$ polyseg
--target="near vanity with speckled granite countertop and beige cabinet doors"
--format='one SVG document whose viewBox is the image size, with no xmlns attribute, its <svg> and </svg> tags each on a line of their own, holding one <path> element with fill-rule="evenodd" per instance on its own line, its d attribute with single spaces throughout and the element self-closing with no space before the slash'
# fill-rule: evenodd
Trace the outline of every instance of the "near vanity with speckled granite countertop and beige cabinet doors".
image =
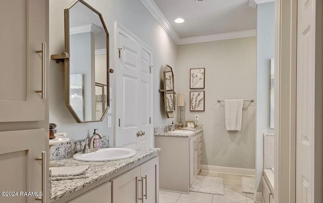
<svg viewBox="0 0 323 203">
<path fill-rule="evenodd" d="M 81 162 L 73 158 L 55 160 L 65 166 L 89 165 L 89 178 L 51 182 L 49 202 L 158 202 L 158 148 L 132 147 L 136 155 L 107 162 Z"/>
</svg>

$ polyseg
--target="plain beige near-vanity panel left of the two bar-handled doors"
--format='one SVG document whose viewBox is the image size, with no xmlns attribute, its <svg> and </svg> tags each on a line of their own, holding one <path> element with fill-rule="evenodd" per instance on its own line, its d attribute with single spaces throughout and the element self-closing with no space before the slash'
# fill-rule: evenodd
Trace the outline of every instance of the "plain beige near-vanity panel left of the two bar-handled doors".
<svg viewBox="0 0 323 203">
<path fill-rule="evenodd" d="M 68 203 L 100 202 L 111 203 L 111 182 L 102 185 L 82 194 Z"/>
</svg>

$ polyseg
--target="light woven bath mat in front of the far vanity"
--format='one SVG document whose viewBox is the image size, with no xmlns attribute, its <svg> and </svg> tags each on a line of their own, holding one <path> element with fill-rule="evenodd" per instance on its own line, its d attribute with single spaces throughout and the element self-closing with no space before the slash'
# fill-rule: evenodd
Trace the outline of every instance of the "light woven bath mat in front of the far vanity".
<svg viewBox="0 0 323 203">
<path fill-rule="evenodd" d="M 224 180 L 221 177 L 195 176 L 190 191 L 224 195 Z"/>
</svg>

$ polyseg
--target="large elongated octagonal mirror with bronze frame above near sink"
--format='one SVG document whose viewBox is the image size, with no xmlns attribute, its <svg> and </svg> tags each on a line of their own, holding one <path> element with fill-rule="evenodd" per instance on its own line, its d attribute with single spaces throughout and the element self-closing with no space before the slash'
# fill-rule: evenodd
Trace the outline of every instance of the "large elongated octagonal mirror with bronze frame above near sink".
<svg viewBox="0 0 323 203">
<path fill-rule="evenodd" d="M 98 122 L 109 109 L 109 32 L 82 0 L 65 10 L 65 104 L 78 123 Z"/>
</svg>

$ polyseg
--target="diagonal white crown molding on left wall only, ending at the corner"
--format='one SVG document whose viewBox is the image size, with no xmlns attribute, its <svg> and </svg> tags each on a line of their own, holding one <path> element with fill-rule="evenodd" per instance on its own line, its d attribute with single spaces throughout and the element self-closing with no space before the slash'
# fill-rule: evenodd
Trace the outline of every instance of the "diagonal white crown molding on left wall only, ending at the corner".
<svg viewBox="0 0 323 203">
<path fill-rule="evenodd" d="M 140 0 L 143 5 L 148 9 L 148 11 L 152 14 L 152 16 L 157 20 L 157 22 L 164 28 L 164 30 L 170 35 L 170 37 L 174 40 L 177 44 L 180 37 L 175 32 L 174 28 L 165 18 L 163 13 L 159 10 L 157 5 L 153 2 L 153 0 Z"/>
</svg>

